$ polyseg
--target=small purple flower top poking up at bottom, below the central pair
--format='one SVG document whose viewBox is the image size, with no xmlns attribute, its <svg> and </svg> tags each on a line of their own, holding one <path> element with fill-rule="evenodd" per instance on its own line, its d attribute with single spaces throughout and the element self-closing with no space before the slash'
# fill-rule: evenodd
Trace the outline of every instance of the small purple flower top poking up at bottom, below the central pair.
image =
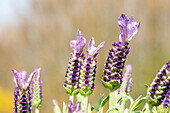
<svg viewBox="0 0 170 113">
<path fill-rule="evenodd" d="M 84 113 L 84 111 L 80 111 L 80 105 L 81 102 L 77 102 L 77 104 L 75 106 L 73 106 L 72 101 L 69 100 L 68 103 L 68 113 Z"/>
</svg>

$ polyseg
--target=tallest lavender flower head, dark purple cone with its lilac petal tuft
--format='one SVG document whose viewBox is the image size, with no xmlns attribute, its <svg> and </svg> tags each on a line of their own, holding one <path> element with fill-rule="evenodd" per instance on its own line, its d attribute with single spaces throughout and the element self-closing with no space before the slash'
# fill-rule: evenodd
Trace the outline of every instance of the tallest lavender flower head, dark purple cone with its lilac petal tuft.
<svg viewBox="0 0 170 113">
<path fill-rule="evenodd" d="M 118 24 L 121 30 L 120 37 L 118 43 L 112 44 L 112 49 L 109 50 L 104 75 L 102 75 L 102 83 L 110 91 L 118 89 L 122 84 L 123 69 L 130 49 L 128 41 L 137 33 L 140 23 L 133 22 L 133 17 L 128 18 L 122 14 Z"/>
</svg>

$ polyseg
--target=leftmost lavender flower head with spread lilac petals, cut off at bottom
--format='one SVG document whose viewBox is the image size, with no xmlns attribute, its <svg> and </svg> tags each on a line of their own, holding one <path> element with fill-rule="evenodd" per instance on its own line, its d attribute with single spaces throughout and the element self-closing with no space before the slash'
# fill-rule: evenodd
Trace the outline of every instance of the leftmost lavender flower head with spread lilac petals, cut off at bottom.
<svg viewBox="0 0 170 113">
<path fill-rule="evenodd" d="M 30 84 L 33 80 L 35 73 L 31 73 L 29 78 L 27 78 L 27 72 L 21 71 L 17 72 L 12 70 L 15 77 L 13 78 L 16 88 L 14 90 L 14 104 L 15 104 L 15 113 L 30 113 L 32 110 L 31 105 L 31 93 L 30 93 Z"/>
</svg>

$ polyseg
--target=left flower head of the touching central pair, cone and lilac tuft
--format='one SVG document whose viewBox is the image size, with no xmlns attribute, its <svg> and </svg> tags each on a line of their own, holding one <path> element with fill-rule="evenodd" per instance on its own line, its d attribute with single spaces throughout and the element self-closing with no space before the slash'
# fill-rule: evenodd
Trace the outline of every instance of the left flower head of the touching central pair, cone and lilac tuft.
<svg viewBox="0 0 170 113">
<path fill-rule="evenodd" d="M 82 37 L 81 32 L 77 32 L 77 40 L 70 41 L 70 48 L 74 51 L 71 53 L 68 69 L 66 72 L 66 81 L 64 89 L 69 95 L 77 95 L 79 92 L 79 78 L 82 60 L 84 57 L 83 48 L 86 44 L 86 39 Z"/>
</svg>

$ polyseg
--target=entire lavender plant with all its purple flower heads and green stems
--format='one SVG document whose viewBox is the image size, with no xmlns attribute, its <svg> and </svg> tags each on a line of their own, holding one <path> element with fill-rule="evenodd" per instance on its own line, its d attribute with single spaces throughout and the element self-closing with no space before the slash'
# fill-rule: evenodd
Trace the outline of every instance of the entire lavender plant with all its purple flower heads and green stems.
<svg viewBox="0 0 170 113">
<path fill-rule="evenodd" d="M 107 61 L 104 67 L 104 74 L 101 82 L 110 93 L 104 98 L 100 95 L 97 106 L 90 107 L 88 96 L 95 89 L 95 77 L 97 68 L 96 56 L 99 50 L 104 48 L 105 42 L 101 42 L 95 47 L 92 37 L 88 44 L 87 57 L 83 53 L 86 39 L 81 32 L 77 31 L 77 40 L 70 41 L 71 58 L 65 75 L 64 89 L 70 96 L 68 104 L 63 102 L 63 113 L 91 113 L 95 109 L 98 113 L 103 113 L 103 108 L 109 101 L 109 109 L 106 113 L 169 113 L 170 112 L 170 60 L 158 72 L 150 87 L 147 88 L 146 97 L 139 96 L 136 100 L 130 96 L 132 91 L 132 66 L 125 66 L 127 55 L 129 54 L 129 42 L 137 34 L 140 23 L 133 21 L 133 16 L 128 18 L 121 14 L 118 19 L 120 35 L 118 42 L 112 44 L 109 50 Z M 42 80 L 40 78 L 40 68 L 27 77 L 26 71 L 14 73 L 13 81 L 16 84 L 14 90 L 14 113 L 39 113 L 42 104 Z M 74 105 L 74 96 L 77 103 Z M 129 107 L 126 103 L 130 101 Z M 144 101 L 146 104 L 142 110 L 135 111 Z M 54 113 L 61 113 L 57 100 L 53 100 Z"/>
</svg>

